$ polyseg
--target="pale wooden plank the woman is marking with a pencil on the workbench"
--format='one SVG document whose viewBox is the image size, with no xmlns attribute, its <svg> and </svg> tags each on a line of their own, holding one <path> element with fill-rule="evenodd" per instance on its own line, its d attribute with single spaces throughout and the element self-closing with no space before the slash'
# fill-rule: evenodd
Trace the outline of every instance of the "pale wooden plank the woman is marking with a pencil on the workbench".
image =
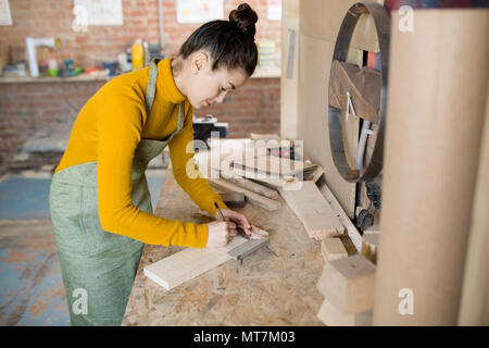
<svg viewBox="0 0 489 348">
<path fill-rule="evenodd" d="M 187 248 L 146 266 L 145 275 L 170 290 L 230 260 L 227 252 L 247 241 L 236 236 L 222 248 Z"/>
</svg>

